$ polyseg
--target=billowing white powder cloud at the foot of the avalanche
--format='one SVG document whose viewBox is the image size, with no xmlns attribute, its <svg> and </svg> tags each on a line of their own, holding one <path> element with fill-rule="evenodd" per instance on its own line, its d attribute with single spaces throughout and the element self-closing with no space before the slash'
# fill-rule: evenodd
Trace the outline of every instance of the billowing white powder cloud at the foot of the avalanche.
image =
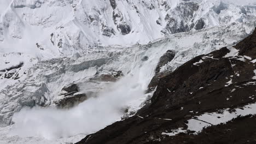
<svg viewBox="0 0 256 144">
<path fill-rule="evenodd" d="M 120 120 L 127 105 L 144 97 L 142 85 L 136 77 L 124 77 L 109 86 L 97 98 L 91 98 L 69 110 L 53 108 L 22 109 L 13 117 L 15 127 L 11 135 L 41 136 L 48 140 L 78 134 L 95 133 Z"/>
</svg>

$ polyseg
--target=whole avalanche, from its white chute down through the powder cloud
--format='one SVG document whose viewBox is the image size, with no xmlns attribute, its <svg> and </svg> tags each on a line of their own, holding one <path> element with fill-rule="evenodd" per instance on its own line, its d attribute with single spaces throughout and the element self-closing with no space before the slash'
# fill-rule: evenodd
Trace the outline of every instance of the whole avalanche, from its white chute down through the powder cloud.
<svg viewBox="0 0 256 144">
<path fill-rule="evenodd" d="M 102 66 L 103 69 L 123 68 L 122 71 L 125 74 L 123 78 L 103 86 L 97 92 L 97 97 L 89 98 L 73 109 L 59 110 L 54 107 L 22 109 L 13 116 L 15 125 L 11 134 L 21 137 L 40 136 L 48 140 L 56 140 L 61 137 L 95 133 L 106 125 L 120 121 L 125 109 L 138 110 L 146 100 L 144 91 L 154 76 L 158 59 L 167 49 L 167 47 L 161 47 L 145 51 L 139 46 L 124 49 L 125 55 L 121 55 L 118 61 Z M 129 53 L 126 53 L 127 51 Z M 148 61 L 141 61 L 145 55 L 149 57 Z M 54 73 L 45 74 L 53 75 Z M 71 80 L 75 80 L 75 77 Z M 53 82 L 54 85 L 56 85 L 55 82 Z M 80 88 L 83 88 L 83 85 Z M 51 85 L 49 89 L 55 90 Z"/>
</svg>

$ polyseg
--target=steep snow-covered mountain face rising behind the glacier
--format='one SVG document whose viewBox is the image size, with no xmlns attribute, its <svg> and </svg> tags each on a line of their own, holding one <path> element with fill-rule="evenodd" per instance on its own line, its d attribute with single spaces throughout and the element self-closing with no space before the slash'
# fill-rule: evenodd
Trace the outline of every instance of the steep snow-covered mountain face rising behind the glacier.
<svg viewBox="0 0 256 144">
<path fill-rule="evenodd" d="M 39 58 L 147 44 L 173 33 L 247 22 L 256 13 L 252 4 L 220 0 L 14 0 L 0 5 L 0 52 L 31 52 Z"/>
</svg>

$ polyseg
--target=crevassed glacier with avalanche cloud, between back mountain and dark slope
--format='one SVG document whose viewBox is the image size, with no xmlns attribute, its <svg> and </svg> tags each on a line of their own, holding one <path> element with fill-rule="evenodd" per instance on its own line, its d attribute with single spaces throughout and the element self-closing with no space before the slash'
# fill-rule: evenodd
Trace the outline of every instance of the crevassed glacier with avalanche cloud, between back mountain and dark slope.
<svg viewBox="0 0 256 144">
<path fill-rule="evenodd" d="M 124 115 L 123 110 L 129 109 L 129 112 L 132 112 L 143 106 L 144 101 L 148 100 L 149 97 L 149 95 L 144 94 L 144 91 L 155 74 L 154 70 L 159 58 L 167 50 L 177 52 L 173 61 L 166 65 L 168 70 L 175 70 L 179 65 L 193 57 L 222 47 L 222 45 L 212 46 L 213 44 L 203 37 L 200 37 L 194 43 L 190 43 L 190 45 L 177 43 L 177 39 L 188 41 L 195 35 L 205 35 L 206 33 L 212 35 L 212 39 L 214 39 L 216 35 L 219 35 L 219 33 L 216 33 L 216 29 L 218 29 L 223 34 L 222 39 L 220 39 L 220 41 L 224 41 L 225 44 L 223 45 L 232 44 L 234 41 L 241 40 L 242 37 L 239 38 L 237 35 L 244 35 L 243 32 L 240 32 L 242 27 L 242 25 L 230 27 L 230 31 L 224 34 L 222 29 L 227 29 L 228 27 L 214 27 L 205 29 L 205 31 L 170 35 L 149 45 L 102 47 L 101 49 L 95 49 L 94 52 L 80 53 L 78 57 L 72 56 L 39 61 L 27 70 L 27 75 L 24 76 L 25 80 L 13 83 L 13 86 L 8 91 L 1 91 L 3 99 L 0 99 L 0 101 L 6 104 L 1 113 L 5 112 L 3 116 L 7 119 L 6 122 L 9 122 L 8 119 L 11 118 L 13 111 L 20 111 L 18 98 L 22 98 L 24 101 L 30 101 L 31 98 L 40 99 L 33 93 L 40 88 L 38 86 L 42 86 L 41 83 L 45 83 L 49 90 L 45 93 L 45 97 L 54 101 L 59 97 L 58 95 L 63 86 L 76 81 L 79 83 L 79 87 L 83 89 L 82 92 L 93 91 L 97 97 L 91 97 L 84 103 L 69 110 L 55 109 L 54 105 L 50 105 L 45 109 L 40 107 L 23 109 L 13 117 L 15 125 L 9 131 L 13 135 L 18 135 L 19 139 L 22 140 L 27 139 L 26 137 L 42 137 L 40 141 L 45 139 L 58 141 L 60 137 L 67 139 L 78 134 L 95 133 L 107 125 L 119 121 Z M 236 33 L 235 37 L 232 37 L 233 33 Z M 113 57 L 109 57 L 110 54 Z M 148 56 L 149 59 L 141 61 L 144 56 Z M 87 67 L 86 62 L 98 62 L 97 59 L 102 58 L 108 59 L 106 64 L 84 69 Z M 25 64 L 28 62 L 30 60 L 26 60 Z M 61 70 L 63 67 L 65 68 L 65 73 Z M 74 72 L 74 68 L 76 68 L 76 72 Z M 123 71 L 125 77 L 117 83 L 100 82 L 95 84 L 88 81 L 97 71 L 100 74 L 105 74 L 111 70 Z M 34 85 L 34 83 L 37 84 Z M 21 88 L 26 95 L 20 94 L 19 89 Z M 12 95 L 13 99 L 10 100 L 9 95 Z M 101 119 L 105 119 L 105 117 L 107 117 L 106 121 L 102 121 Z M 88 121 L 84 119 L 88 119 Z M 97 127 L 92 127 L 95 123 L 97 123 Z M 23 130 L 25 127 L 26 129 Z M 5 138 L 4 140 L 7 141 L 7 138 Z"/>
</svg>

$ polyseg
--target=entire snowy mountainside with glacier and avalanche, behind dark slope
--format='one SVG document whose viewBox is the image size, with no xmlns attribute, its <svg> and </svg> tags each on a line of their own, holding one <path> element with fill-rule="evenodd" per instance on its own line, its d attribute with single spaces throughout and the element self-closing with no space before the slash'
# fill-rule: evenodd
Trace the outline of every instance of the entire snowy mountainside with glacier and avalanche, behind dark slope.
<svg viewBox="0 0 256 144">
<path fill-rule="evenodd" d="M 0 143 L 73 142 L 134 115 L 167 50 L 160 71 L 237 44 L 256 26 L 253 2 L 0 1 Z"/>
</svg>

